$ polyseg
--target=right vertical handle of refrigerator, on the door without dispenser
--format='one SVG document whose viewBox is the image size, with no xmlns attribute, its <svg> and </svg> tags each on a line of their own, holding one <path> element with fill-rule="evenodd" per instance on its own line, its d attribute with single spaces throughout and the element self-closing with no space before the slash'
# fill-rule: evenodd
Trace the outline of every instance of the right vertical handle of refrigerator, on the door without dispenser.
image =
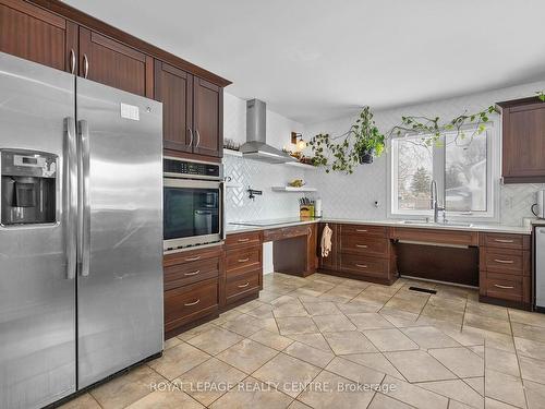
<svg viewBox="0 0 545 409">
<path fill-rule="evenodd" d="M 89 202 L 89 127 L 78 121 L 80 133 L 80 274 L 87 277 L 90 270 L 90 202 Z"/>
</svg>

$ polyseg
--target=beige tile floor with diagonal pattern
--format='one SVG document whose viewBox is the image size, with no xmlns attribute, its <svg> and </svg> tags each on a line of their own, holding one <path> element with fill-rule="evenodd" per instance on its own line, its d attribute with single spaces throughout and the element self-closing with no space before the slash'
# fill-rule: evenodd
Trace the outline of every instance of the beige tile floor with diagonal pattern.
<svg viewBox="0 0 545 409">
<path fill-rule="evenodd" d="M 322 274 L 166 342 L 65 408 L 545 408 L 545 314 Z"/>
</svg>

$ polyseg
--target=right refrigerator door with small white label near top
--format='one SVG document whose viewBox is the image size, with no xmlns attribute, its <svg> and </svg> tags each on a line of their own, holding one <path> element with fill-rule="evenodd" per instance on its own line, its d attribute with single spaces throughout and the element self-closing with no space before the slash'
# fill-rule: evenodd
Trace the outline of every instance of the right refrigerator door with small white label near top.
<svg viewBox="0 0 545 409">
<path fill-rule="evenodd" d="M 76 89 L 82 388 L 162 350 L 162 105 Z"/>
</svg>

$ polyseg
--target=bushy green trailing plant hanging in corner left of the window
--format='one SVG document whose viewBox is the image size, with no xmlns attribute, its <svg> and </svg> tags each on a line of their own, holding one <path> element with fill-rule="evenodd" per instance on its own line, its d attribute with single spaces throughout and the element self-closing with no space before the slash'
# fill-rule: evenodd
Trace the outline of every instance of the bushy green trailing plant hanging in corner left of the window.
<svg viewBox="0 0 545 409">
<path fill-rule="evenodd" d="M 336 140 L 341 142 L 334 142 Z M 353 173 L 359 164 L 373 163 L 373 157 L 380 156 L 385 151 L 385 144 L 386 136 L 376 127 L 373 112 L 367 106 L 344 134 L 331 137 L 327 133 L 320 133 L 308 142 L 314 153 L 314 165 L 325 166 L 326 172 L 336 170 L 346 173 Z M 326 149 L 334 157 L 331 163 L 326 156 Z"/>
</svg>

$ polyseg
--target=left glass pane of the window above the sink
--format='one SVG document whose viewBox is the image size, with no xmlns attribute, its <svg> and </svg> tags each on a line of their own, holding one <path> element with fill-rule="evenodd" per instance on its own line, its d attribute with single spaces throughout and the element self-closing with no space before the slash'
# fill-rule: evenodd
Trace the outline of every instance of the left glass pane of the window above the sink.
<svg viewBox="0 0 545 409">
<path fill-rule="evenodd" d="M 400 210 L 429 209 L 429 183 L 433 178 L 433 147 L 421 139 L 395 141 L 398 151 L 397 185 Z"/>
</svg>

